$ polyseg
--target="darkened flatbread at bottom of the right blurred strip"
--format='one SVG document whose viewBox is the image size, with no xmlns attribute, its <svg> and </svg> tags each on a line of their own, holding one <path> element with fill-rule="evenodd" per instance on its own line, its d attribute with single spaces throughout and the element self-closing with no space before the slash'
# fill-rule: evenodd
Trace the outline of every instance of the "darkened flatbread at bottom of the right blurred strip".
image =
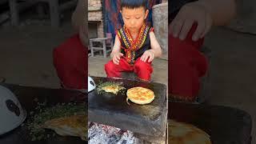
<svg viewBox="0 0 256 144">
<path fill-rule="evenodd" d="M 210 135 L 206 134 L 203 130 L 198 129 L 196 126 L 169 121 L 169 143 L 174 144 L 211 144 Z"/>
</svg>

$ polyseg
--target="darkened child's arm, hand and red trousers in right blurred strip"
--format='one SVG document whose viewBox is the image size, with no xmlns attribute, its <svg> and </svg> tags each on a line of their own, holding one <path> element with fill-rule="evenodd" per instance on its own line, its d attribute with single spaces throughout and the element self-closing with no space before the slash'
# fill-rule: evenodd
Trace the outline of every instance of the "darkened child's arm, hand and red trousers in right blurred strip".
<svg viewBox="0 0 256 144">
<path fill-rule="evenodd" d="M 169 7 L 169 91 L 174 97 L 194 100 L 200 78 L 208 70 L 200 52 L 211 26 L 221 26 L 234 17 L 234 0 L 172 0 Z"/>
</svg>

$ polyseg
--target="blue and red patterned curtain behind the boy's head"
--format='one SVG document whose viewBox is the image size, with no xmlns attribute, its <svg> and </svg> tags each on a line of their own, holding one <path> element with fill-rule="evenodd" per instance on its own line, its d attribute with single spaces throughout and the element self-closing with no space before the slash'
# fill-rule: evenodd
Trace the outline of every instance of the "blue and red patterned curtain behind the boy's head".
<svg viewBox="0 0 256 144">
<path fill-rule="evenodd" d="M 115 37 L 115 31 L 122 25 L 122 15 L 120 14 L 120 0 L 103 0 L 105 5 L 104 18 L 106 33 L 112 34 L 112 38 Z M 152 22 L 152 6 L 161 3 L 162 0 L 149 0 L 147 7 L 150 10 L 146 22 L 153 25 Z"/>
</svg>

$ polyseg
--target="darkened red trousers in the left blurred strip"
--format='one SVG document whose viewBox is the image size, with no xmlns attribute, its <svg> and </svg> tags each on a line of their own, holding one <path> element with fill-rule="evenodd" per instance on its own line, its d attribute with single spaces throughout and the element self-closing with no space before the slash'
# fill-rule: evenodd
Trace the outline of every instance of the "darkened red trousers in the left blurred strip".
<svg viewBox="0 0 256 144">
<path fill-rule="evenodd" d="M 54 66 L 62 85 L 69 89 L 87 89 L 87 48 L 75 34 L 54 49 Z"/>
</svg>

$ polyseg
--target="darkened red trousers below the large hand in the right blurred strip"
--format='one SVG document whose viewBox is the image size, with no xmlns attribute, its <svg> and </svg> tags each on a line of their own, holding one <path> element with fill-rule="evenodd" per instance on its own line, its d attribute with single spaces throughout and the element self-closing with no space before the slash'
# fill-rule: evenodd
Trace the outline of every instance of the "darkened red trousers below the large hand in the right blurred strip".
<svg viewBox="0 0 256 144">
<path fill-rule="evenodd" d="M 170 94 L 193 99 L 200 89 L 199 78 L 206 74 L 206 57 L 199 51 L 203 38 L 192 41 L 196 30 L 192 27 L 184 41 L 169 34 L 169 90 Z"/>
</svg>

